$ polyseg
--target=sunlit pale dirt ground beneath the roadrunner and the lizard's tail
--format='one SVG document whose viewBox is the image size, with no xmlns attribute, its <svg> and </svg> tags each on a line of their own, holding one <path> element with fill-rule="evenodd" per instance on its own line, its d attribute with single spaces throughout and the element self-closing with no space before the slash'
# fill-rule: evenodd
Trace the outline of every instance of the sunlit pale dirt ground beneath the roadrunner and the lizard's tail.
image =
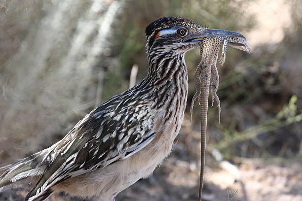
<svg viewBox="0 0 302 201">
<path fill-rule="evenodd" d="M 197 161 L 187 160 L 188 157 L 182 159 L 180 153 L 188 153 L 180 148 L 181 142 L 150 178 L 141 179 L 121 192 L 116 201 L 196 201 Z M 245 159 L 239 165 L 239 171 L 236 168 L 230 171 L 219 165 L 207 167 L 203 200 L 227 201 L 231 192 L 237 191 L 232 201 L 302 201 L 301 167 L 300 162 L 276 163 L 256 159 Z M 0 201 L 22 201 L 25 195 L 24 190 L 10 190 L 0 193 Z M 55 195 L 49 201 L 85 200 Z"/>
</svg>

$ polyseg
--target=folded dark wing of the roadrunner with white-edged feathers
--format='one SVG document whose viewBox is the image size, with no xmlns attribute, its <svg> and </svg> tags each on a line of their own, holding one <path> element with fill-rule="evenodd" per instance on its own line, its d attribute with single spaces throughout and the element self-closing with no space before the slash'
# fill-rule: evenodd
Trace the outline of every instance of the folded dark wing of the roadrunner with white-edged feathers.
<svg viewBox="0 0 302 201">
<path fill-rule="evenodd" d="M 44 157 L 49 165 L 26 200 L 42 197 L 68 178 L 123 160 L 152 141 L 155 133 L 149 107 L 113 100 L 78 122 Z"/>
</svg>

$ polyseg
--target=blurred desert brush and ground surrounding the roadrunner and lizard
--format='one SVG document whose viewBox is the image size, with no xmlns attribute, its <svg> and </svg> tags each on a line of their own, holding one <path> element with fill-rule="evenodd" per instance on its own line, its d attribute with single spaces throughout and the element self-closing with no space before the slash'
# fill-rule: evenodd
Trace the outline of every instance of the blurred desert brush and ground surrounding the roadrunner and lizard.
<svg viewBox="0 0 302 201">
<path fill-rule="evenodd" d="M 218 124 L 209 108 L 203 199 L 302 201 L 301 0 L 0 0 L 0 166 L 60 140 L 129 88 L 131 74 L 142 80 L 145 28 L 164 16 L 242 33 L 251 47 L 228 48 L 218 65 L 222 116 Z M 117 201 L 197 200 L 199 105 L 192 122 L 188 105 L 199 60 L 198 50 L 186 55 L 189 97 L 174 151 Z M 0 201 L 25 194 L 2 192 Z"/>
</svg>

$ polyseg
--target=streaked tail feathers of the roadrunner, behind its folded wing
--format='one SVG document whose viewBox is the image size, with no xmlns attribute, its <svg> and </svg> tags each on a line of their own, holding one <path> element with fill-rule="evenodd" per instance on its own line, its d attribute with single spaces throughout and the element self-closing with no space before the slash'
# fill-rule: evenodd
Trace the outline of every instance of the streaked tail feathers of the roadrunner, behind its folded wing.
<svg viewBox="0 0 302 201">
<path fill-rule="evenodd" d="M 0 167 L 0 192 L 14 188 L 26 179 L 30 184 L 35 185 L 33 180 L 39 178 L 46 168 L 46 164 L 43 165 L 42 162 L 45 154 L 43 150 L 16 163 Z"/>
</svg>

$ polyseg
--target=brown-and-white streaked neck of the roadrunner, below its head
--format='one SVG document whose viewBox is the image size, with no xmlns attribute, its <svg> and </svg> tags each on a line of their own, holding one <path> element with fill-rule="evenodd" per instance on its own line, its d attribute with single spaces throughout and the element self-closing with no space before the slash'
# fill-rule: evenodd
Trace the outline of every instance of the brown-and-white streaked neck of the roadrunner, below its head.
<svg viewBox="0 0 302 201">
<path fill-rule="evenodd" d="M 158 52 L 157 52 L 158 53 Z M 151 85 L 154 105 L 183 114 L 188 95 L 188 70 L 185 54 L 165 52 L 149 54 L 147 80 Z"/>
</svg>

